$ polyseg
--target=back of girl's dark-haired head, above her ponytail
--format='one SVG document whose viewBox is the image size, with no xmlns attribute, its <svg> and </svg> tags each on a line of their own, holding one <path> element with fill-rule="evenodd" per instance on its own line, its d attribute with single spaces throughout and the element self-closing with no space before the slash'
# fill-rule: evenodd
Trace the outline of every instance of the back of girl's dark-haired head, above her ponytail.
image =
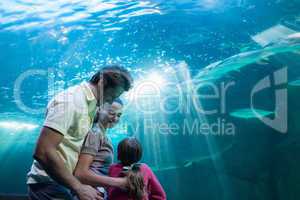
<svg viewBox="0 0 300 200">
<path fill-rule="evenodd" d="M 141 160 L 143 149 L 136 138 L 125 138 L 118 145 L 118 160 L 124 166 L 130 166 Z"/>
</svg>

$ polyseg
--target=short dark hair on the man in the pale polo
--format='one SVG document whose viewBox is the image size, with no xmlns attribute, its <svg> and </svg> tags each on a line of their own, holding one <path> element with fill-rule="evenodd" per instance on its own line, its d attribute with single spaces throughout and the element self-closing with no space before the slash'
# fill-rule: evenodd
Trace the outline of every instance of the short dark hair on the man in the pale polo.
<svg viewBox="0 0 300 200">
<path fill-rule="evenodd" d="M 97 85 L 100 79 L 103 80 L 104 89 L 121 86 L 125 91 L 131 88 L 133 82 L 129 71 L 119 65 L 108 65 L 98 70 L 90 79 L 90 83 Z"/>
</svg>

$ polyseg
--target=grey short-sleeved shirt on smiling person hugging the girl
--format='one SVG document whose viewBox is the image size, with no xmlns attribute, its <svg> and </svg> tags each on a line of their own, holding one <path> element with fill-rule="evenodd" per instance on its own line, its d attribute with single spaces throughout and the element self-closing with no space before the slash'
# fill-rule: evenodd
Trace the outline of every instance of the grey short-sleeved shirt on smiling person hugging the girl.
<svg viewBox="0 0 300 200">
<path fill-rule="evenodd" d="M 97 174 L 108 175 L 113 162 L 113 145 L 105 129 L 97 124 L 89 131 L 82 145 L 81 153 L 94 156 L 90 169 Z"/>
</svg>

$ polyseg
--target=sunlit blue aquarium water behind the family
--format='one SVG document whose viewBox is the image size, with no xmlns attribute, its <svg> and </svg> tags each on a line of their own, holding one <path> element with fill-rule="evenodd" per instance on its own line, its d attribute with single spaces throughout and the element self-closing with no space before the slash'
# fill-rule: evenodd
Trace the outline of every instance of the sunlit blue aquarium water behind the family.
<svg viewBox="0 0 300 200">
<path fill-rule="evenodd" d="M 47 102 L 119 63 L 135 86 L 108 135 L 141 140 L 168 199 L 299 199 L 299 11 L 298 0 L 2 0 L 0 194 L 26 193 Z M 288 100 L 276 101 L 281 69 Z M 279 127 L 262 121 L 285 103 Z"/>
</svg>

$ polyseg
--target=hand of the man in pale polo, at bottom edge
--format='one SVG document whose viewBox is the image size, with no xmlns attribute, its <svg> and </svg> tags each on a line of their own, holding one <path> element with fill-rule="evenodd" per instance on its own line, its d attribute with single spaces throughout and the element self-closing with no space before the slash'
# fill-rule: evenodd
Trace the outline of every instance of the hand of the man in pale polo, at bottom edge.
<svg viewBox="0 0 300 200">
<path fill-rule="evenodd" d="M 81 185 L 75 192 L 80 200 L 103 200 L 101 193 L 89 185 Z"/>
</svg>

